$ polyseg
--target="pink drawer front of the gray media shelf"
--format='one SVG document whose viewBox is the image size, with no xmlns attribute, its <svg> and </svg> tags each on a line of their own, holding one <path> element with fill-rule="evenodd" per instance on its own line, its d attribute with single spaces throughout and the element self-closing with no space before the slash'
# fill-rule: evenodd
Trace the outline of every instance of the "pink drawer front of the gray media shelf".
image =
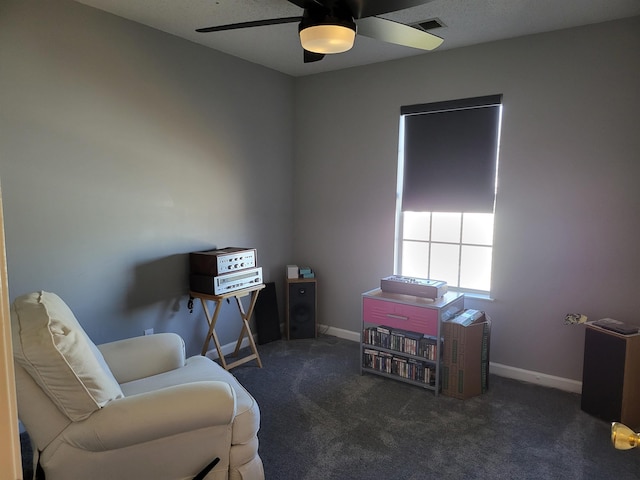
<svg viewBox="0 0 640 480">
<path fill-rule="evenodd" d="M 425 335 L 438 335 L 438 310 L 402 303 L 363 298 L 363 320 L 367 323 L 410 330 Z"/>
</svg>

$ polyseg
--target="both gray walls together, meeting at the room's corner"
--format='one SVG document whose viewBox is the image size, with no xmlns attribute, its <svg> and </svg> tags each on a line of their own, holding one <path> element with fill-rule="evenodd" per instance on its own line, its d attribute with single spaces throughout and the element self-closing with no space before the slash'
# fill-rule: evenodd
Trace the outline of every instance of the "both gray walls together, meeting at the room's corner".
<svg viewBox="0 0 640 480">
<path fill-rule="evenodd" d="M 493 318 L 492 361 L 579 380 L 567 312 L 638 322 L 639 50 L 635 18 L 293 79 L 68 0 L 3 0 L 10 295 L 59 293 L 98 342 L 153 327 L 196 353 L 186 253 L 246 245 L 280 302 L 284 265 L 308 264 L 319 321 L 358 332 L 393 268 L 399 107 L 502 93 L 495 301 L 468 305 Z"/>
</svg>

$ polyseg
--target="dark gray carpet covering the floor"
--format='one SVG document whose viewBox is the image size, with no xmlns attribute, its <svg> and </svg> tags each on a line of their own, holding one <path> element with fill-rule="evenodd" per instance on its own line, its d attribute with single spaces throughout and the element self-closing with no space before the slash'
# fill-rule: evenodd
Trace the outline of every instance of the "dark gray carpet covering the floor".
<svg viewBox="0 0 640 480">
<path fill-rule="evenodd" d="M 491 376 L 482 396 L 435 397 L 361 376 L 355 342 L 258 348 L 264 368 L 232 373 L 260 405 L 268 480 L 640 478 L 640 450 L 615 450 L 580 395 Z"/>
</svg>

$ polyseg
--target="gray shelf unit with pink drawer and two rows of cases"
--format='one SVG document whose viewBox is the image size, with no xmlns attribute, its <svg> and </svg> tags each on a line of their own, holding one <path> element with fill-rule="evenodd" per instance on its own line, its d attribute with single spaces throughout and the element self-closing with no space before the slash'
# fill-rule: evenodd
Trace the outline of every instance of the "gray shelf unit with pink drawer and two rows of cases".
<svg viewBox="0 0 640 480">
<path fill-rule="evenodd" d="M 441 385 L 442 322 L 464 309 L 464 294 L 438 299 L 383 292 L 362 294 L 360 373 L 410 383 L 437 395 Z"/>
</svg>

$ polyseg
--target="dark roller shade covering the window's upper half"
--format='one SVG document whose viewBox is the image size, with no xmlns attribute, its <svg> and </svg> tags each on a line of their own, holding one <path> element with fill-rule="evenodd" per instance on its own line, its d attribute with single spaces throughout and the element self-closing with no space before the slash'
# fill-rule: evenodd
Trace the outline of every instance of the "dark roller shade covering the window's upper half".
<svg viewBox="0 0 640 480">
<path fill-rule="evenodd" d="M 403 211 L 492 213 L 501 95 L 402 107 Z"/>
</svg>

